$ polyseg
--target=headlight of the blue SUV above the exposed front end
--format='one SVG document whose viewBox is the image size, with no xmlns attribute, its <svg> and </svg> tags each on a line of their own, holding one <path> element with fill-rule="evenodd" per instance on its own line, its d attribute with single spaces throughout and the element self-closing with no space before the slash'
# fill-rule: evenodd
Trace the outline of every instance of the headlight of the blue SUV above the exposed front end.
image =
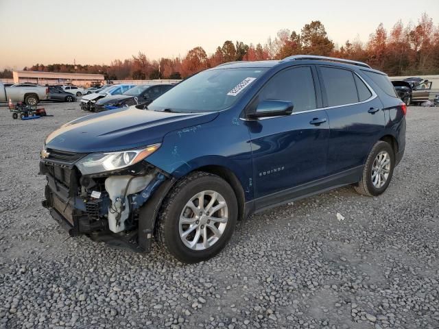
<svg viewBox="0 0 439 329">
<path fill-rule="evenodd" d="M 82 175 L 91 175 L 92 173 L 102 173 L 128 167 L 137 163 L 150 154 L 153 154 L 161 144 L 154 144 L 145 149 L 130 149 L 127 151 L 93 153 L 81 159 L 76 166 L 80 169 Z"/>
</svg>

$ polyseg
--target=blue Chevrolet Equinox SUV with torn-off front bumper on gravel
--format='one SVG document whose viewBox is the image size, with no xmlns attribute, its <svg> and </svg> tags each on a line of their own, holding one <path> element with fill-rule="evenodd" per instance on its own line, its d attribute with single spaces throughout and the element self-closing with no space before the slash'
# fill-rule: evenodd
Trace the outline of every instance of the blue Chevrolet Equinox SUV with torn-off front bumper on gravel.
<svg viewBox="0 0 439 329">
<path fill-rule="evenodd" d="M 361 62 L 292 56 L 202 71 L 152 101 L 47 136 L 43 206 L 71 236 L 185 263 L 217 254 L 237 220 L 339 186 L 388 188 L 406 106 Z"/>
</svg>

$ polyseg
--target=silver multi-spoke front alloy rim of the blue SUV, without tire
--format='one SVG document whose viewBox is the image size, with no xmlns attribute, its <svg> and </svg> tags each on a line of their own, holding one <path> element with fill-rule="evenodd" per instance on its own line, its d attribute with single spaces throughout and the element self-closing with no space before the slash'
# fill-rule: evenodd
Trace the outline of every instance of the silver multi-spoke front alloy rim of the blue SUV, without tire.
<svg viewBox="0 0 439 329">
<path fill-rule="evenodd" d="M 227 222 L 224 197 L 215 191 L 202 191 L 183 207 L 178 222 L 180 239 L 190 249 L 205 250 L 221 238 Z"/>
</svg>

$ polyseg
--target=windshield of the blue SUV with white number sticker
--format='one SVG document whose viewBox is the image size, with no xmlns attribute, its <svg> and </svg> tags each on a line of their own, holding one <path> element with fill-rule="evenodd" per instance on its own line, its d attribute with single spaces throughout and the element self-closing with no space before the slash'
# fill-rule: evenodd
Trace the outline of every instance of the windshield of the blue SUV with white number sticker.
<svg viewBox="0 0 439 329">
<path fill-rule="evenodd" d="M 148 105 L 148 110 L 216 112 L 233 105 L 265 68 L 214 69 L 180 82 Z"/>
</svg>

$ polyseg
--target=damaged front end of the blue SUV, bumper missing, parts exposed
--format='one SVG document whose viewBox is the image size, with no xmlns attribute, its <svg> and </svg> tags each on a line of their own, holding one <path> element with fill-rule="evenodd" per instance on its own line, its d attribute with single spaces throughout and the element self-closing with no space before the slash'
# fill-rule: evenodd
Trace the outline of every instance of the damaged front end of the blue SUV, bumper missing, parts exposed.
<svg viewBox="0 0 439 329">
<path fill-rule="evenodd" d="M 145 155 L 148 149 L 152 147 L 130 152 Z M 40 174 L 47 178 L 43 206 L 70 236 L 86 234 L 114 247 L 150 252 L 154 219 L 174 179 L 143 160 L 145 156 L 130 164 L 129 154 L 121 155 L 130 164 L 121 169 L 97 173 L 87 169 L 93 161 L 100 161 L 99 165 L 121 161 L 117 152 L 99 156 L 44 149 L 40 160 Z"/>
</svg>

